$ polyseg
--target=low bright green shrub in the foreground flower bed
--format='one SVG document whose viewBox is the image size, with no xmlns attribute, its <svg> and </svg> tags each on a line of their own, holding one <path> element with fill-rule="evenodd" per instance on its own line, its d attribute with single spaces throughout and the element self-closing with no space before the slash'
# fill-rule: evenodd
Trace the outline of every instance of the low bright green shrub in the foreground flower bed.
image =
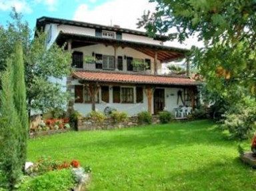
<svg viewBox="0 0 256 191">
<path fill-rule="evenodd" d="M 20 191 L 71 190 L 75 187 L 75 179 L 70 169 L 47 172 L 35 178 L 25 180 Z"/>
</svg>

